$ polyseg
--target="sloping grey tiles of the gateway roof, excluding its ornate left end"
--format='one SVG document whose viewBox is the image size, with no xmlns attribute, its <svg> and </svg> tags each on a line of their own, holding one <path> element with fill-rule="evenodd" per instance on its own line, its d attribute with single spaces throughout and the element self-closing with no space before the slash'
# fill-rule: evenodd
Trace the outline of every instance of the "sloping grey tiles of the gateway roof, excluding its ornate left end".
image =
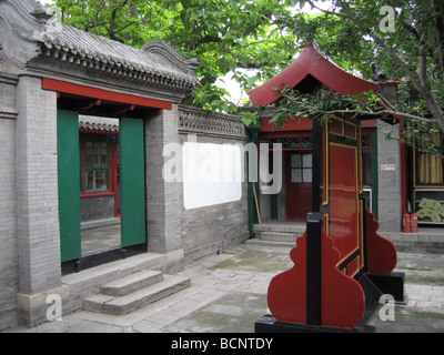
<svg viewBox="0 0 444 355">
<path fill-rule="evenodd" d="M 42 38 L 42 54 L 68 63 L 179 90 L 192 90 L 195 85 L 196 60 L 185 59 L 172 48 L 159 54 L 150 51 L 150 45 L 135 49 L 54 21 L 47 23 Z"/>
</svg>

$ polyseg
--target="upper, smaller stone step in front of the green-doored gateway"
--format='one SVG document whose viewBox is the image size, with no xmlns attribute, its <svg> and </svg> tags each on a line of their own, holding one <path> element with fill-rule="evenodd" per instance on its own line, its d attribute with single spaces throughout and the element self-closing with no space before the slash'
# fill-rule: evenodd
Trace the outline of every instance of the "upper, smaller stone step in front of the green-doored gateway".
<svg viewBox="0 0 444 355">
<path fill-rule="evenodd" d="M 161 282 L 162 280 L 162 272 L 145 270 L 104 284 L 100 287 L 100 293 L 109 296 L 124 296 L 134 291 Z"/>
</svg>

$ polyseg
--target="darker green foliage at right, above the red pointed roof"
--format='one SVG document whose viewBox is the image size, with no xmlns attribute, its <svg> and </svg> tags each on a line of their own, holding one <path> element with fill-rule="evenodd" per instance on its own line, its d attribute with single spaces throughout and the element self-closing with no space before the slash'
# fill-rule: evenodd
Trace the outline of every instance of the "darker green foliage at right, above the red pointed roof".
<svg viewBox="0 0 444 355">
<path fill-rule="evenodd" d="M 299 1 L 313 3 L 312 1 Z M 316 3 L 325 1 L 316 1 Z M 306 42 L 316 41 L 323 53 L 346 71 L 371 79 L 398 78 L 420 92 L 422 109 L 441 119 L 444 104 L 444 3 L 436 0 L 332 0 L 316 16 L 281 17 L 281 27 Z M 314 3 L 313 3 L 314 4 Z M 393 31 L 383 32 L 380 10 L 395 10 Z M 411 110 L 400 101 L 400 110 Z M 444 129 L 444 123 L 440 126 Z"/>
</svg>

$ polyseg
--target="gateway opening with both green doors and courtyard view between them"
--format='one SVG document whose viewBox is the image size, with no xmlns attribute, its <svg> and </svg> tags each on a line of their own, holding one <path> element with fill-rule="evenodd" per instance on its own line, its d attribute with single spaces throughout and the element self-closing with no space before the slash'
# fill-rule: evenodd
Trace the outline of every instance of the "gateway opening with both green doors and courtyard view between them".
<svg viewBox="0 0 444 355">
<path fill-rule="evenodd" d="M 97 264 L 147 243 L 144 121 L 113 120 L 118 134 L 79 133 L 79 113 L 58 111 L 62 263 Z"/>
</svg>

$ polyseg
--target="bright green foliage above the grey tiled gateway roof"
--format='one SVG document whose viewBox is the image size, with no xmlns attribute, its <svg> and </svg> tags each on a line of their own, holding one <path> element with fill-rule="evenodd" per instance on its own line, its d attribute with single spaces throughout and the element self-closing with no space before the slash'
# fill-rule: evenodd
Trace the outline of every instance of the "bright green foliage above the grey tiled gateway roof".
<svg viewBox="0 0 444 355">
<path fill-rule="evenodd" d="M 234 112 L 229 92 L 215 85 L 230 71 L 245 90 L 285 68 L 293 40 L 274 18 L 286 13 L 282 0 L 54 0 L 63 21 L 84 31 L 140 48 L 163 40 L 185 57 L 198 58 L 199 87 L 186 103 Z M 290 53 L 290 54 L 289 54 Z M 245 77 L 236 69 L 261 69 Z"/>
</svg>

